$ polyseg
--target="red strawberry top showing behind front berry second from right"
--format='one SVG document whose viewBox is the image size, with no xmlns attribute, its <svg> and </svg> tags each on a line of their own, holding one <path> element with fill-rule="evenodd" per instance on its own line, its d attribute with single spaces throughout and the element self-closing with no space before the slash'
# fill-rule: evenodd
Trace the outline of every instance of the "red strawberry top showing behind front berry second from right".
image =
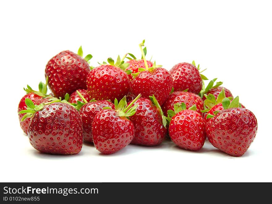
<svg viewBox="0 0 272 204">
<path fill-rule="evenodd" d="M 201 114 L 201 110 L 203 110 L 203 101 L 200 96 L 190 92 L 174 91 L 162 105 L 164 115 L 167 115 L 168 110 L 174 110 L 174 105 L 176 103 L 182 102 L 186 104 L 187 108 L 196 105 L 196 111 Z"/>
</svg>

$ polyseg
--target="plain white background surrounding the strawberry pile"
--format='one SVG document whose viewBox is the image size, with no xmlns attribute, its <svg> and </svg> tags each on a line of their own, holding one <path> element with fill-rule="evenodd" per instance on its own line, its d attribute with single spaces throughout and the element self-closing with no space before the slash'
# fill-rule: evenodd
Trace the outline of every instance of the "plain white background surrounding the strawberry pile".
<svg viewBox="0 0 272 204">
<path fill-rule="evenodd" d="M 269 1 L 4 1 L 0 7 L 1 181 L 272 181 L 271 5 Z M 129 145 L 101 155 L 84 145 L 74 156 L 41 154 L 20 129 L 17 107 L 27 84 L 44 81 L 62 50 L 91 53 L 91 65 L 126 52 L 171 69 L 195 60 L 240 96 L 258 120 L 244 156 L 206 142 L 199 152 Z"/>
</svg>

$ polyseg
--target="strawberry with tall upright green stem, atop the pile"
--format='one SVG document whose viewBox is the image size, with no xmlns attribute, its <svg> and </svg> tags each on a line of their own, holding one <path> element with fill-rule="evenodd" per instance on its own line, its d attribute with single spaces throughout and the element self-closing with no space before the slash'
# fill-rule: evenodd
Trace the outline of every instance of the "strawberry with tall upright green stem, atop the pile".
<svg viewBox="0 0 272 204">
<path fill-rule="evenodd" d="M 172 77 L 166 69 L 157 67 L 155 62 L 153 67 L 148 68 L 142 50 L 144 42 L 143 40 L 143 42 L 139 44 L 139 47 L 142 51 L 146 69 L 139 68 L 139 73 L 132 74 L 135 78 L 131 82 L 131 90 L 133 94 L 141 94 L 144 98 L 148 98 L 154 94 L 159 104 L 162 105 L 168 98 L 173 87 Z"/>
</svg>

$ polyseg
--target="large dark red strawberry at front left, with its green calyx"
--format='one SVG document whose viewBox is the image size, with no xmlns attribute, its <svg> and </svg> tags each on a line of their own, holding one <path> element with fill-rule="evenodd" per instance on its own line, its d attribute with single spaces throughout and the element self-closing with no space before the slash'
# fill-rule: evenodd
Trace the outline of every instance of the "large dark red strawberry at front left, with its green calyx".
<svg viewBox="0 0 272 204">
<path fill-rule="evenodd" d="M 28 110 L 23 117 L 32 117 L 28 127 L 30 144 L 49 154 L 77 154 L 83 144 L 82 121 L 79 112 L 60 100 L 40 104 L 26 98 Z"/>
</svg>

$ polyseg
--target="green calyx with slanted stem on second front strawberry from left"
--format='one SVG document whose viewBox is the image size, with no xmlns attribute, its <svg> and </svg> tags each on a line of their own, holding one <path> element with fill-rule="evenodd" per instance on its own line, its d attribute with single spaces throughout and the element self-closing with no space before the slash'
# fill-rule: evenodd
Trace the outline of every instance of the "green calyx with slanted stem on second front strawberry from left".
<svg viewBox="0 0 272 204">
<path fill-rule="evenodd" d="M 136 113 L 136 108 L 138 107 L 138 104 L 135 104 L 133 107 L 131 107 L 131 106 L 140 97 L 141 97 L 141 94 L 139 94 L 129 105 L 127 105 L 125 96 L 119 101 L 119 103 L 118 103 L 117 98 L 115 98 L 114 106 L 115 106 L 115 110 L 117 112 L 117 115 L 120 116 L 120 117 L 126 117 L 126 118 L 129 119 L 130 116 L 132 116 L 132 115 L 134 115 Z M 112 109 L 112 108 L 104 107 L 103 109 Z"/>
</svg>

